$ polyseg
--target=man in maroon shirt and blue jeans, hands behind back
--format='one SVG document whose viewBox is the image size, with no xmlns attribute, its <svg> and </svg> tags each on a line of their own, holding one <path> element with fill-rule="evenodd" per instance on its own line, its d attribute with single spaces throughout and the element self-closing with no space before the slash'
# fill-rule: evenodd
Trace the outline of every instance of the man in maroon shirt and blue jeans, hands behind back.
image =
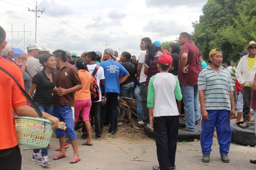
<svg viewBox="0 0 256 170">
<path fill-rule="evenodd" d="M 194 132 L 200 121 L 198 110 L 197 78 L 201 71 L 199 50 L 191 41 L 188 33 L 182 32 L 179 37 L 182 50 L 179 57 L 178 79 L 182 83 L 182 95 L 186 113 L 186 130 Z"/>
</svg>

